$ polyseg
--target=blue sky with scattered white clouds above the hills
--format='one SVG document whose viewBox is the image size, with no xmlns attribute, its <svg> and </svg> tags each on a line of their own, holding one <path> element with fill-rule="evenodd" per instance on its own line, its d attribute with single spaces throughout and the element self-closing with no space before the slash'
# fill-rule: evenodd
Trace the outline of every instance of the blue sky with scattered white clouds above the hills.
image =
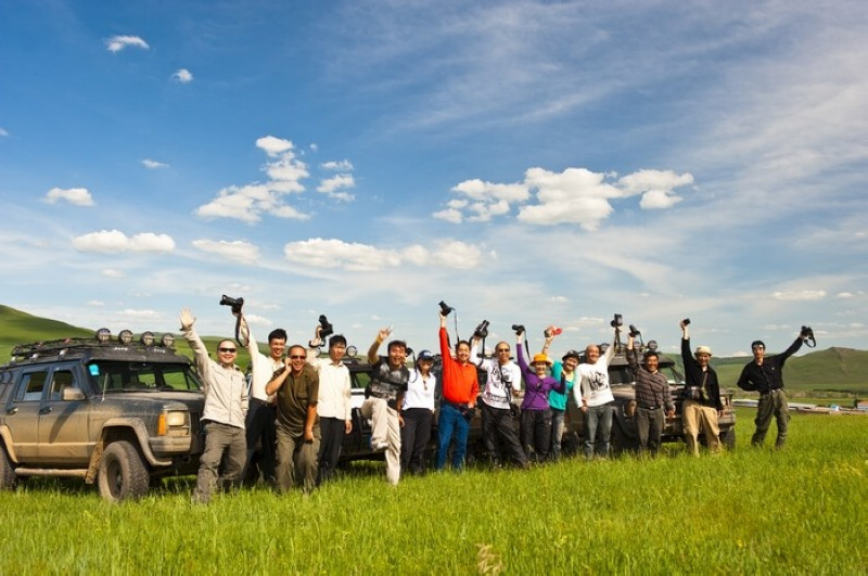
<svg viewBox="0 0 868 576">
<path fill-rule="evenodd" d="M 435 346 L 868 336 L 856 1 L 0 3 L 0 303 Z M 454 332 L 452 319 L 449 321 Z M 493 342 L 489 342 L 493 344 Z"/>
</svg>

